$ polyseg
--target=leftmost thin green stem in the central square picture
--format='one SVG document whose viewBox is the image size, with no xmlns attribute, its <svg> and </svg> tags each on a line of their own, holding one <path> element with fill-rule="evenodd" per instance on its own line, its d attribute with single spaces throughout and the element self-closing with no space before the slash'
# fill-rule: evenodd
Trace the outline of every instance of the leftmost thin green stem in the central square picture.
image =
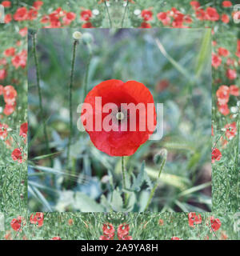
<svg viewBox="0 0 240 256">
<path fill-rule="evenodd" d="M 35 62 L 35 69 L 36 69 L 37 86 L 38 86 L 39 109 L 40 109 L 40 115 L 41 115 L 42 124 L 43 124 L 43 134 L 45 138 L 46 151 L 47 151 L 47 154 L 50 154 L 50 146 L 49 146 L 49 140 L 47 136 L 46 122 L 45 122 L 43 107 L 42 107 L 42 90 L 40 87 L 40 72 L 39 72 L 39 63 L 38 63 L 38 57 L 37 57 L 36 39 L 37 39 L 37 32 L 34 31 L 32 34 L 32 42 L 33 42 L 33 54 L 34 54 L 34 62 Z M 50 158 L 50 164 L 52 167 L 53 166 L 52 158 Z"/>
</svg>

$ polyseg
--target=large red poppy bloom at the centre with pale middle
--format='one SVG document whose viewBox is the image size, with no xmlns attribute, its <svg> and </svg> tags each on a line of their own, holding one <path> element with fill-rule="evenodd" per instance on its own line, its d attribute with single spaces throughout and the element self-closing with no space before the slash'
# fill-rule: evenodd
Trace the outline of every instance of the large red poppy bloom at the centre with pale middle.
<svg viewBox="0 0 240 256">
<path fill-rule="evenodd" d="M 97 102 L 99 97 L 102 99 L 101 102 L 99 100 Z M 111 156 L 134 154 L 154 132 L 156 126 L 154 98 L 150 90 L 140 82 L 122 82 L 115 79 L 101 82 L 90 90 L 84 103 L 89 104 L 92 111 L 82 113 L 83 126 L 94 146 L 106 154 Z M 110 108 L 113 106 L 110 113 L 106 113 L 109 110 L 106 110 L 105 105 Z M 149 107 L 150 111 L 147 111 Z M 137 108 L 141 110 L 136 111 Z M 147 112 L 152 113 L 147 114 Z M 90 123 L 86 126 L 88 121 Z"/>
</svg>

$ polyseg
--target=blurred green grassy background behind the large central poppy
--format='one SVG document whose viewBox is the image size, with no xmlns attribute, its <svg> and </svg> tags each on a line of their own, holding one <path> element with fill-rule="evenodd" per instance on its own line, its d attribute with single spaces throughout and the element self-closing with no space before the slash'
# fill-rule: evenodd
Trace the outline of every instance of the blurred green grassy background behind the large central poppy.
<svg viewBox="0 0 240 256">
<path fill-rule="evenodd" d="M 69 135 L 73 29 L 42 29 L 37 34 L 40 85 L 54 165 L 46 158 L 38 109 L 32 41 L 29 34 L 29 208 L 31 211 L 142 211 L 158 177 L 154 154 L 168 150 L 166 167 L 151 211 L 211 210 L 211 49 L 210 29 L 79 30 L 93 35 L 87 90 L 107 79 L 145 84 L 154 102 L 164 104 L 164 136 L 126 158 L 126 169 L 139 178 L 139 191 L 122 203 L 121 158 L 97 150 L 88 134 L 74 125 L 73 169 L 66 168 Z M 160 47 L 159 47 L 160 46 Z M 80 41 L 74 71 L 74 124 L 89 59 Z M 70 183 L 66 183 L 66 178 Z M 141 177 L 140 177 L 141 178 Z"/>
</svg>

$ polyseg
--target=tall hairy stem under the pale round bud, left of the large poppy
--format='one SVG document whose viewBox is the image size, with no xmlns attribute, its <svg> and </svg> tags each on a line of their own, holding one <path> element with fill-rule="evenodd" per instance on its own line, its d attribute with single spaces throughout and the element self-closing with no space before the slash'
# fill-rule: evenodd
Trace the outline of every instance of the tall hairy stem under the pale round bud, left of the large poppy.
<svg viewBox="0 0 240 256">
<path fill-rule="evenodd" d="M 74 39 L 73 43 L 73 54 L 72 54 L 72 62 L 71 62 L 71 71 L 70 71 L 70 86 L 69 86 L 69 111 L 70 111 L 70 134 L 68 138 L 67 144 L 67 164 L 70 166 L 70 146 L 72 141 L 72 133 L 73 133 L 73 110 L 72 110 L 72 90 L 73 90 L 73 81 L 74 81 L 74 64 L 75 64 L 75 57 L 76 57 L 76 47 L 78 44 L 78 40 Z"/>
</svg>

